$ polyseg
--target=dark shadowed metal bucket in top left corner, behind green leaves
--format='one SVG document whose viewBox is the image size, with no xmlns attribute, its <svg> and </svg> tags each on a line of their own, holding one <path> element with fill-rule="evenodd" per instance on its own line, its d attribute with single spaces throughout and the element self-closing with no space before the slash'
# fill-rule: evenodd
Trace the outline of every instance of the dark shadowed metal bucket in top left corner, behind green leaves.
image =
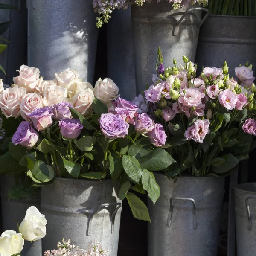
<svg viewBox="0 0 256 256">
<path fill-rule="evenodd" d="M 16 70 L 27 61 L 26 0 L 0 0 L 0 3 L 19 8 L 19 10 L 0 9 L 0 23 L 11 21 L 9 29 L 0 35 L 9 41 L 9 43 L 1 41 L 1 44 L 8 44 L 8 48 L 0 54 L 0 64 L 7 76 L 0 71 L 0 78 L 3 79 L 4 84 L 11 85 L 12 78 L 18 74 Z"/>
</svg>

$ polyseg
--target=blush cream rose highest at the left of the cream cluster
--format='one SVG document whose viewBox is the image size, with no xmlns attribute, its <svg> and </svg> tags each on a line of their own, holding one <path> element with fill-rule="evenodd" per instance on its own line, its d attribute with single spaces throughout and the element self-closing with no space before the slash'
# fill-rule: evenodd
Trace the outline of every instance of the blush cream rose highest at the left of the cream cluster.
<svg viewBox="0 0 256 256">
<path fill-rule="evenodd" d="M 33 93 L 35 88 L 42 82 L 42 79 L 39 78 L 40 70 L 36 67 L 22 65 L 17 72 L 20 75 L 14 77 L 13 82 L 18 87 L 26 88 L 27 93 Z"/>
</svg>

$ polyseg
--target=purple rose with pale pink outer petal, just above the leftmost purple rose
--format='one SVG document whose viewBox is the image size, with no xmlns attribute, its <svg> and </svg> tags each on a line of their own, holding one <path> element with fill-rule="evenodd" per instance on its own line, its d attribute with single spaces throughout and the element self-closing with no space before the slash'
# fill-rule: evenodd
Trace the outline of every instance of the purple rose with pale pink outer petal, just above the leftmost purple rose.
<svg viewBox="0 0 256 256">
<path fill-rule="evenodd" d="M 27 118 L 38 131 L 43 131 L 52 125 L 52 116 L 53 113 L 49 107 L 37 108 L 27 114 Z"/>
</svg>

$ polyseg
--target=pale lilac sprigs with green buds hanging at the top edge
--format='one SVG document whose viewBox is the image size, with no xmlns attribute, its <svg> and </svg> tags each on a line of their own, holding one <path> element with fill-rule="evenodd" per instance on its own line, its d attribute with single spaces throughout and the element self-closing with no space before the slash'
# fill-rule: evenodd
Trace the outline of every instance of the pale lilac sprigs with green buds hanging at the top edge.
<svg viewBox="0 0 256 256">
<path fill-rule="evenodd" d="M 153 2 L 156 0 L 93 0 L 93 8 L 94 11 L 99 13 L 99 17 L 97 17 L 96 27 L 100 28 L 104 23 L 108 23 L 110 19 L 110 14 L 114 9 L 128 9 L 131 4 L 137 4 L 137 6 L 142 6 L 144 2 Z M 162 0 L 164 1 L 164 0 Z M 173 9 L 179 9 L 182 6 L 186 6 L 188 4 L 198 4 L 207 6 L 208 0 L 165 0 L 168 1 Z M 160 0 L 157 0 L 160 2 Z"/>
</svg>

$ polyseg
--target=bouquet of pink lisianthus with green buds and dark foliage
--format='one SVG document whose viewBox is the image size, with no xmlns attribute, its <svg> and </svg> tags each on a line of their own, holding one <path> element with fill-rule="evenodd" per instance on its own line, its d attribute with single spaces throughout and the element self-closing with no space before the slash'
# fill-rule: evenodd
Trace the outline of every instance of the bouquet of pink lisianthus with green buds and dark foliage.
<svg viewBox="0 0 256 256">
<path fill-rule="evenodd" d="M 184 66 L 174 60 L 174 67 L 164 69 L 159 48 L 157 74 L 144 92 L 146 111 L 164 126 L 164 147 L 177 161 L 167 174 L 229 175 L 256 145 L 251 66 L 237 67 L 236 80 L 226 62 L 222 68 L 205 67 L 197 77 L 196 65 L 185 56 L 183 61 Z"/>
</svg>

